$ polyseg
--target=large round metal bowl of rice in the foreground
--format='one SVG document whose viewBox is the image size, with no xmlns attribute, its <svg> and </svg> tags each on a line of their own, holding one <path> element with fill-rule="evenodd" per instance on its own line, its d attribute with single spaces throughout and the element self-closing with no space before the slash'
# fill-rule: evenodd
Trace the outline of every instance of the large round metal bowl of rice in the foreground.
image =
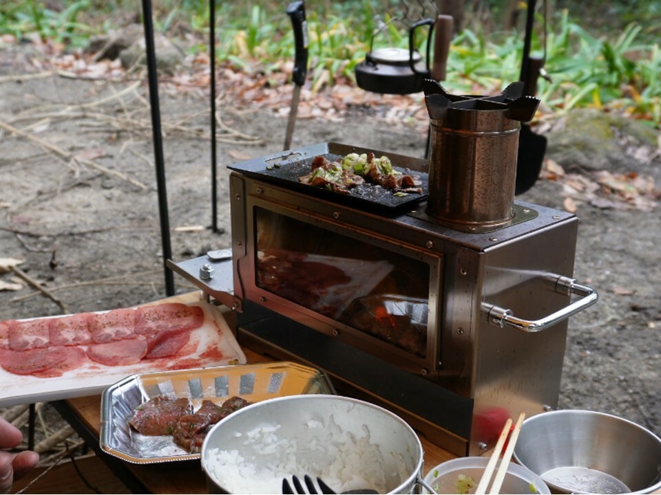
<svg viewBox="0 0 661 495">
<path fill-rule="evenodd" d="M 337 395 L 293 395 L 253 404 L 222 419 L 202 445 L 210 493 L 280 493 L 282 478 L 305 474 L 321 476 L 337 493 L 377 489 L 334 486 L 335 476 L 328 473 L 339 472 L 338 459 L 343 468 L 356 467 L 353 471 L 365 480 L 381 476 L 379 493 L 411 493 L 422 478 L 422 445 L 405 421 L 374 404 Z M 303 464 L 308 472 L 291 472 L 293 465 L 300 470 Z"/>
</svg>

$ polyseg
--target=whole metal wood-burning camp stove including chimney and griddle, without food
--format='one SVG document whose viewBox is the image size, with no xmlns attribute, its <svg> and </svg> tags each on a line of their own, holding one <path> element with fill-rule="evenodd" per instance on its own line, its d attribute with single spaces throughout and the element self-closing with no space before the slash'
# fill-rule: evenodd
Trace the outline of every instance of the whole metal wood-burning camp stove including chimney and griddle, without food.
<svg viewBox="0 0 661 495">
<path fill-rule="evenodd" d="M 598 296 L 571 278 L 574 214 L 514 201 L 518 130 L 538 101 L 516 84 L 492 98 L 425 91 L 429 162 L 331 142 L 235 164 L 231 254 L 169 266 L 234 310 L 240 342 L 479 454 L 507 417 L 556 406 L 567 318 Z M 318 155 L 370 151 L 418 175 L 423 195 L 298 181 Z"/>
</svg>

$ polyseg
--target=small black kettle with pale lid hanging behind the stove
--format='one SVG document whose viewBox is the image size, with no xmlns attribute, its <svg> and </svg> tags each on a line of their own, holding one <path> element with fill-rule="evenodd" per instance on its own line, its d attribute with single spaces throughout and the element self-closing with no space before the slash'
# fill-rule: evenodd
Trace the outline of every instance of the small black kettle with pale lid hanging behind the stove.
<svg viewBox="0 0 661 495">
<path fill-rule="evenodd" d="M 427 58 L 415 50 L 415 31 L 429 26 Z M 433 19 L 422 19 L 408 30 L 408 50 L 404 48 L 377 48 L 366 54 L 365 60 L 356 65 L 356 83 L 359 88 L 372 93 L 412 94 L 422 91 L 422 81 L 430 78 L 430 46 Z"/>
</svg>

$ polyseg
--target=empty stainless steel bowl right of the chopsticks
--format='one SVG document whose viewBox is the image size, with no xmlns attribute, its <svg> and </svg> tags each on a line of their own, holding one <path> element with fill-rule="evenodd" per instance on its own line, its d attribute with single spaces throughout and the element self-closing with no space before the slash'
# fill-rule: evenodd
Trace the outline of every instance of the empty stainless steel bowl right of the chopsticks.
<svg viewBox="0 0 661 495">
<path fill-rule="evenodd" d="M 558 410 L 526 419 L 514 459 L 560 493 L 647 494 L 661 488 L 661 439 L 603 412 Z"/>
</svg>

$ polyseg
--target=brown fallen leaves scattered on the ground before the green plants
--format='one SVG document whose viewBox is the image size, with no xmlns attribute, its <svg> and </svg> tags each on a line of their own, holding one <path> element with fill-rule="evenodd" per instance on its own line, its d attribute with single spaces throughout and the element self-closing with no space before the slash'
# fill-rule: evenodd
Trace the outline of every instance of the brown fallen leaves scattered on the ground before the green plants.
<svg viewBox="0 0 661 495">
<path fill-rule="evenodd" d="M 5 41 L 8 43 L 8 41 Z M 94 54 L 62 54 L 57 47 L 38 45 L 43 59 L 32 60 L 32 72 L 50 70 L 66 77 L 122 80 L 127 74 L 118 61 L 94 61 Z M 48 55 L 48 56 L 46 56 Z M 271 109 L 276 115 L 286 117 L 291 104 L 293 85 L 290 75 L 291 61 L 283 61 L 280 67 L 271 67 L 269 72 L 258 69 L 242 71 L 229 63 L 217 67 L 217 94 L 220 102 L 247 109 Z M 297 118 L 320 119 L 338 122 L 351 118 L 353 109 L 360 109 L 370 118 L 385 122 L 414 124 L 417 131 L 426 133 L 428 115 L 421 94 L 385 95 L 363 91 L 350 80 L 319 79 L 313 84 L 308 78 L 304 86 L 297 111 Z M 174 76 L 160 78 L 165 91 L 198 91 L 208 93 L 210 84 L 209 57 L 205 53 L 190 56 L 186 68 Z M 92 153 L 93 150 L 83 151 Z M 636 150 L 632 151 L 636 153 Z M 237 157 L 239 159 L 239 157 Z M 636 173 L 616 174 L 607 170 L 581 175 L 565 173 L 562 166 L 547 159 L 541 179 L 563 184 L 564 207 L 576 212 L 580 203 L 589 203 L 596 208 L 618 208 L 650 211 L 661 197 L 652 177 Z"/>
</svg>

